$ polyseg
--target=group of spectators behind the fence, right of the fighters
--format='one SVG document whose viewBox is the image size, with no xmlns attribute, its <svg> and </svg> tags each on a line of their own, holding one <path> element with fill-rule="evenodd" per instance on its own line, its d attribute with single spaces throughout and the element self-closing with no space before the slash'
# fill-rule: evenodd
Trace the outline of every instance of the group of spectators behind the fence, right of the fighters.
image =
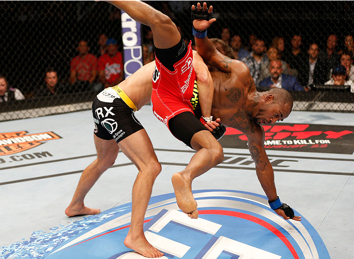
<svg viewBox="0 0 354 259">
<path fill-rule="evenodd" d="M 319 49 L 321 42 L 312 42 L 305 48 L 302 36 L 296 34 L 289 42 L 289 49 L 286 49 L 283 37 L 274 37 L 266 44 L 254 34 L 249 36 L 247 48 L 243 46 L 241 36 L 230 34 L 228 28 L 222 28 L 220 38 L 229 42 L 235 58 L 248 66 L 256 86 L 261 90 L 283 87 L 287 90 L 311 91 L 316 86 L 348 85 L 350 91 L 354 92 L 354 41 L 350 35 L 345 37 L 345 49 L 342 50 L 338 49 L 335 34 L 328 36 L 323 50 Z"/>
</svg>

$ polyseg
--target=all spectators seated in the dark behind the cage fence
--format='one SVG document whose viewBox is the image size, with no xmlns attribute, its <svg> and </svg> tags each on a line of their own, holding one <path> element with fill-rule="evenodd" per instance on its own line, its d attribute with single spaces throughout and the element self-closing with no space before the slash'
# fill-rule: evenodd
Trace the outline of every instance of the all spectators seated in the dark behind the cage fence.
<svg viewBox="0 0 354 259">
<path fill-rule="evenodd" d="M 181 27 L 178 29 L 188 44 L 189 39 L 184 36 Z M 243 45 L 242 37 L 232 35 L 229 28 L 221 29 L 220 39 L 230 46 L 235 59 L 248 66 L 256 86 L 261 90 L 282 87 L 287 90 L 311 91 L 316 85 L 348 85 L 350 91 L 354 92 L 354 41 L 351 35 L 344 38 L 345 48 L 341 50 L 338 49 L 335 34 L 328 36 L 323 50 L 319 49 L 321 42 L 313 42 L 308 49 L 305 48 L 301 35 L 293 35 L 289 49 L 286 49 L 283 37 L 274 37 L 268 44 L 254 34 L 249 36 L 247 45 Z M 89 42 L 80 40 L 77 52 L 78 55 L 70 61 L 68 83 L 58 83 L 64 80 L 59 80 L 57 71 L 49 67 L 44 72 L 43 82 L 29 96 L 99 91 L 124 79 L 122 54 L 115 39 L 100 34 L 92 52 Z M 142 59 L 143 64 L 155 59 L 153 34 L 150 30 L 144 33 Z M 9 86 L 6 77 L 0 75 L 0 102 L 23 99 L 25 97 L 21 91 Z"/>
</svg>

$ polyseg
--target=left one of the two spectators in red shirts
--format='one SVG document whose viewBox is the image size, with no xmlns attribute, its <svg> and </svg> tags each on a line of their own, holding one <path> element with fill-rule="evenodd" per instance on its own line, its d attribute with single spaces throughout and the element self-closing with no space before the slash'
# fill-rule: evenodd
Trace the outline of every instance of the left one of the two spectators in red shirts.
<svg viewBox="0 0 354 259">
<path fill-rule="evenodd" d="M 80 40 L 78 51 L 79 55 L 70 62 L 70 84 L 77 91 L 89 89 L 97 76 L 97 58 L 88 53 L 89 46 L 86 40 Z"/>
</svg>

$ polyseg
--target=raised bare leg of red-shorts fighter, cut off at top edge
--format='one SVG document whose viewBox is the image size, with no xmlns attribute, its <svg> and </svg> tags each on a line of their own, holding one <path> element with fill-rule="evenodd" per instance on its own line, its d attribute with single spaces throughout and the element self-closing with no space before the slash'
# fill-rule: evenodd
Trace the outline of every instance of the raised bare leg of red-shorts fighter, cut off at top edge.
<svg viewBox="0 0 354 259">
<path fill-rule="evenodd" d="M 181 35 L 172 20 L 162 12 L 141 1 L 107 1 L 126 12 L 135 21 L 151 28 L 154 45 L 159 49 L 168 49 L 176 45 Z"/>
</svg>

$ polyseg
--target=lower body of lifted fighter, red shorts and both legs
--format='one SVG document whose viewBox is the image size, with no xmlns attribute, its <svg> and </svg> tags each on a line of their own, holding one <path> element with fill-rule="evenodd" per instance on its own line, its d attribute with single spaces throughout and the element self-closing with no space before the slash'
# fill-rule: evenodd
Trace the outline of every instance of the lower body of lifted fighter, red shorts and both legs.
<svg viewBox="0 0 354 259">
<path fill-rule="evenodd" d="M 225 128 L 217 127 L 214 130 L 214 137 L 208 129 L 219 126 L 220 120 L 211 121 L 210 116 L 201 119 L 202 123 L 194 116 L 191 100 L 196 78 L 191 62 L 193 58 L 191 43 L 186 46 L 168 16 L 143 2 L 108 2 L 125 11 L 134 20 L 149 26 L 153 32 L 156 67 L 153 73 L 151 103 L 155 116 L 171 133 L 197 151 L 188 166 L 172 176 L 178 206 L 189 217 L 197 218 L 197 203 L 191 192 L 191 183 L 194 178 L 223 161 L 223 150 L 216 138 L 223 135 Z M 211 19 L 209 22 L 212 23 L 214 20 Z M 211 102 L 212 97 L 210 109 Z M 203 110 L 202 114 L 205 116 Z M 185 177 L 187 175 L 188 177 Z"/>
</svg>

